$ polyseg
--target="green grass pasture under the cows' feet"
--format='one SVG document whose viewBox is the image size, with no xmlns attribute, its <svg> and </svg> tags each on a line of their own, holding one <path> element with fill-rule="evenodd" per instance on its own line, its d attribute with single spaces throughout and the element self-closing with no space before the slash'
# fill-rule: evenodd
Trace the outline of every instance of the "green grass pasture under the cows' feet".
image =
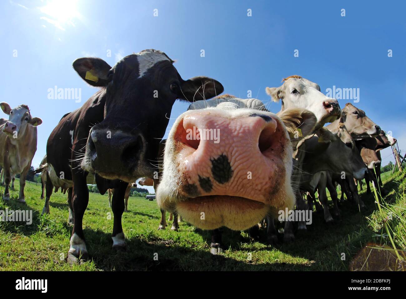
<svg viewBox="0 0 406 299">
<path fill-rule="evenodd" d="M 406 179 L 404 174 L 385 174 L 382 212 L 398 249 L 406 249 Z M 382 219 L 372 195 L 361 192 L 367 210 L 357 212 L 345 201 L 340 210 L 342 220 L 326 225 L 322 213 L 313 213 L 313 225 L 307 232 L 296 234 L 296 241 L 275 248 L 266 244 L 265 231 L 261 240 L 251 242 L 248 234 L 224 229 L 225 251 L 209 252 L 210 235 L 185 222 L 179 231 L 158 231 L 160 211 L 155 201 L 130 197 L 130 212 L 123 214 L 123 229 L 128 252 L 112 250 L 113 215 L 107 196 L 90 193 L 84 215 L 84 232 L 91 259 L 80 265 L 66 262 L 72 227 L 67 225 L 67 195 L 52 194 L 50 215 L 41 216 L 41 187 L 26 184 L 26 204 L 18 203 L 19 184 L 11 192 L 12 200 L 0 200 L 0 210 L 33 210 L 32 225 L 0 222 L 0 269 L 5 271 L 120 271 L 120 270 L 330 270 L 345 271 L 352 257 L 367 242 L 388 244 Z M 0 188 L 4 192 L 4 187 Z M 109 217 L 111 213 L 111 218 Z M 391 219 L 389 215 L 392 214 Z M 346 259 L 341 260 L 341 253 Z M 154 260 L 158 254 L 158 260 Z"/>
</svg>

